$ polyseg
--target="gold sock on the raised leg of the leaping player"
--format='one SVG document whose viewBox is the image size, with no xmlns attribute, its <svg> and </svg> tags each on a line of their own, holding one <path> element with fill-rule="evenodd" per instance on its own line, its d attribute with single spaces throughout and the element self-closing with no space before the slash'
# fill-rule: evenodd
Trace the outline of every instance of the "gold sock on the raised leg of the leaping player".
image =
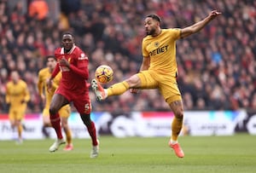
<svg viewBox="0 0 256 173">
<path fill-rule="evenodd" d="M 129 84 L 126 81 L 123 81 L 118 84 L 113 84 L 108 88 L 108 96 L 111 95 L 122 95 L 127 89 L 129 89 Z"/>
</svg>

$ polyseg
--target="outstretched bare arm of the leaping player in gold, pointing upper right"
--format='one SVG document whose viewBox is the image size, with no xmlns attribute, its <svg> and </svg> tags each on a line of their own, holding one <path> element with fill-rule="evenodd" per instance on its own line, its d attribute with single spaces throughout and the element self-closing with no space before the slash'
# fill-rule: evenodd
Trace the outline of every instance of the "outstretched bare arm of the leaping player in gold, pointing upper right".
<svg viewBox="0 0 256 173">
<path fill-rule="evenodd" d="M 181 38 L 189 37 L 191 34 L 201 31 L 204 26 L 215 19 L 219 14 L 221 13 L 217 10 L 213 10 L 205 19 L 195 23 L 193 26 L 188 26 L 181 29 Z"/>
</svg>

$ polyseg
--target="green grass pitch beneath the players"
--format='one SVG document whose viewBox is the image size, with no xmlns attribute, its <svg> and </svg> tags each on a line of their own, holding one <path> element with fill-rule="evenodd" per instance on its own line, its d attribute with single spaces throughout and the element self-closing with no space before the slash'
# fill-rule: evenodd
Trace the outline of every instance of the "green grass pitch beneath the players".
<svg viewBox="0 0 256 173">
<path fill-rule="evenodd" d="M 0 141 L 2 173 L 236 173 L 256 172 L 256 136 L 180 136 L 185 157 L 178 159 L 167 137 L 100 136 L 100 155 L 90 159 L 90 139 L 74 139 L 74 150 L 55 153 L 53 140 Z"/>
</svg>

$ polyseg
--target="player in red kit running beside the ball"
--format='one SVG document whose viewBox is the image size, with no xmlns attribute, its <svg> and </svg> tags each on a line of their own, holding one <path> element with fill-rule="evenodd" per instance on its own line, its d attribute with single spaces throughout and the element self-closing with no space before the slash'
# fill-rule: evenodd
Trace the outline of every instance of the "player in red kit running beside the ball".
<svg viewBox="0 0 256 173">
<path fill-rule="evenodd" d="M 57 140 L 49 147 L 49 152 L 55 152 L 61 144 L 66 142 L 61 134 L 61 119 L 58 111 L 72 101 L 92 140 L 90 158 L 96 158 L 99 153 L 99 141 L 96 137 L 95 124 L 90 119 L 89 85 L 86 83 L 89 78 L 89 60 L 87 55 L 75 45 L 73 34 L 63 34 L 61 45 L 61 48 L 55 49 L 55 57 L 58 62 L 48 81 L 50 89 L 52 79 L 61 71 L 61 83 L 49 106 L 50 123 L 57 135 Z"/>
</svg>

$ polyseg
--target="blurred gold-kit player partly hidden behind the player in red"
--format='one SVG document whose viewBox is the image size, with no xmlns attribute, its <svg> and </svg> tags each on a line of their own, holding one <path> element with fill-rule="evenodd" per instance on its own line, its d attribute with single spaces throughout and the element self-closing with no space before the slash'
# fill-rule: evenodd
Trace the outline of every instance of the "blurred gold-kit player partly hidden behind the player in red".
<svg viewBox="0 0 256 173">
<path fill-rule="evenodd" d="M 55 66 L 57 64 L 57 61 L 55 59 L 54 55 L 49 55 L 46 57 L 47 59 L 47 67 L 41 69 L 38 72 L 38 92 L 39 95 L 41 96 L 41 99 L 44 101 L 44 111 L 43 111 L 43 132 L 46 136 L 49 136 L 47 134 L 46 128 L 51 127 L 50 121 L 49 121 L 49 104 L 52 99 L 52 96 L 55 93 L 55 89 L 57 89 L 58 85 L 60 84 L 61 81 L 61 73 L 59 73 L 55 79 L 53 80 L 53 84 L 51 89 L 47 88 L 47 80 L 50 78 L 51 73 L 55 69 Z M 65 151 L 71 151 L 73 150 L 73 143 L 72 143 L 72 133 L 71 130 L 67 124 L 67 120 L 70 116 L 70 106 L 66 105 L 64 107 L 61 107 L 59 114 L 61 116 L 61 126 L 63 130 L 65 131 L 66 134 L 66 140 L 67 140 L 67 145 L 64 147 Z"/>
</svg>

